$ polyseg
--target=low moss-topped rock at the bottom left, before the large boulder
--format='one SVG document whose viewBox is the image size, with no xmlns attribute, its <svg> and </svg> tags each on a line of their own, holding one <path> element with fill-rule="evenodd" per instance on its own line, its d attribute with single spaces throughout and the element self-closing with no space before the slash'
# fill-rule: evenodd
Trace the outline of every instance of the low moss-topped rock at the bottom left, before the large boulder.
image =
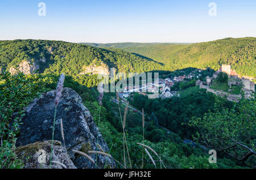
<svg viewBox="0 0 256 180">
<path fill-rule="evenodd" d="M 49 169 L 51 147 L 53 147 L 52 164 L 53 169 L 76 169 L 65 148 L 60 142 L 54 141 L 36 142 L 16 148 L 15 153 L 23 160 L 26 169 Z"/>
</svg>

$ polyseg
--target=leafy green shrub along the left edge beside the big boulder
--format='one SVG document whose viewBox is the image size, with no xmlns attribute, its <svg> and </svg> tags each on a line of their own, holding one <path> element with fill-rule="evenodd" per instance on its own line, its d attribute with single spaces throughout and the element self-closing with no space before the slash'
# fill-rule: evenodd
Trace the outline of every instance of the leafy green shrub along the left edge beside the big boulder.
<svg viewBox="0 0 256 180">
<path fill-rule="evenodd" d="M 16 159 L 15 136 L 18 133 L 24 108 L 35 96 L 39 96 L 40 83 L 34 83 L 34 76 L 11 76 L 9 72 L 0 74 L 0 168 L 21 168 Z M 9 125 L 10 124 L 10 125 Z"/>
</svg>

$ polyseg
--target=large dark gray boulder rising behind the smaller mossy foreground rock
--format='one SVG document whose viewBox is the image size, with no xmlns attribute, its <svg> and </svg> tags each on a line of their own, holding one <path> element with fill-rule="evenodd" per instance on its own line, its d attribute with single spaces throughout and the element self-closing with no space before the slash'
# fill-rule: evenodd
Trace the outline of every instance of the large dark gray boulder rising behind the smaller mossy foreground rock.
<svg viewBox="0 0 256 180">
<path fill-rule="evenodd" d="M 49 91 L 40 98 L 35 98 L 26 108 L 26 115 L 20 125 L 20 135 L 16 146 L 27 145 L 52 139 L 53 117 L 55 112 L 56 91 Z M 87 158 L 74 154 L 72 149 L 87 153 L 88 151 L 103 151 L 109 148 L 102 138 L 98 127 L 94 124 L 89 110 L 82 104 L 81 97 L 70 88 L 64 88 L 57 106 L 54 139 L 62 144 L 60 119 L 63 119 L 65 145 L 68 155 L 77 168 L 95 168 Z M 96 155 L 90 155 L 96 162 Z M 100 168 L 114 168 L 115 162 L 109 157 L 97 155 Z"/>
</svg>

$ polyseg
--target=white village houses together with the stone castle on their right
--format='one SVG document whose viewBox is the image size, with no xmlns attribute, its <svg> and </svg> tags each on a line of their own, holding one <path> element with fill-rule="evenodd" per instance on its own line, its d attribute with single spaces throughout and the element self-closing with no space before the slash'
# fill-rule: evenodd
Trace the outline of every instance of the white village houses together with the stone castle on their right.
<svg viewBox="0 0 256 180">
<path fill-rule="evenodd" d="M 191 80 L 191 79 L 196 79 L 196 85 L 199 86 L 200 88 L 207 89 L 207 92 L 212 92 L 215 93 L 216 95 L 220 96 L 227 96 L 228 100 L 230 101 L 238 101 L 238 98 L 241 97 L 240 93 L 236 94 L 232 92 L 233 87 L 242 87 L 243 86 L 243 91 L 245 92 L 245 97 L 250 98 L 251 93 L 254 93 L 255 91 L 255 85 L 252 78 L 244 78 L 240 77 L 236 71 L 232 70 L 230 65 L 222 65 L 219 70 L 214 72 L 212 77 L 207 76 L 206 81 L 201 81 L 199 80 L 199 77 L 201 76 L 201 69 L 196 69 L 190 72 L 189 74 L 185 75 L 180 75 L 180 76 L 170 76 L 165 79 L 158 79 L 157 82 L 152 82 L 152 83 L 146 83 L 140 85 L 139 87 L 135 86 L 127 86 L 125 87 L 123 92 L 119 93 L 119 97 L 122 98 L 127 98 L 130 97 L 130 95 L 134 92 L 138 92 L 139 94 L 143 96 L 148 96 L 150 93 L 155 93 L 158 92 L 158 97 L 161 98 L 170 98 L 172 96 L 179 96 L 178 91 L 173 91 L 172 87 L 174 86 L 175 83 L 183 82 L 184 80 Z M 219 89 L 214 89 L 213 84 L 214 80 L 216 80 L 218 74 L 220 72 L 225 72 L 228 75 L 228 84 L 227 86 L 229 87 L 228 91 L 222 91 Z"/>
</svg>

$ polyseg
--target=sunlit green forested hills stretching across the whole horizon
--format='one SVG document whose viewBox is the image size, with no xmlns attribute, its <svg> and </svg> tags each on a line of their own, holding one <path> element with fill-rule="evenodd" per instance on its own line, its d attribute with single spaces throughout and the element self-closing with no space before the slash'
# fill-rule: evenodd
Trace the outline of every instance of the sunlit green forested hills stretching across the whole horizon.
<svg viewBox="0 0 256 180">
<path fill-rule="evenodd" d="M 119 72 L 175 71 L 187 67 L 217 70 L 222 64 L 230 64 L 238 74 L 255 77 L 255 41 L 255 37 L 245 37 L 196 44 L 88 44 L 92 46 L 46 40 L 0 41 L 0 68 L 42 58 L 46 62 L 39 61 L 40 72 L 68 75 L 77 75 L 84 66 L 101 62 Z"/>
</svg>

